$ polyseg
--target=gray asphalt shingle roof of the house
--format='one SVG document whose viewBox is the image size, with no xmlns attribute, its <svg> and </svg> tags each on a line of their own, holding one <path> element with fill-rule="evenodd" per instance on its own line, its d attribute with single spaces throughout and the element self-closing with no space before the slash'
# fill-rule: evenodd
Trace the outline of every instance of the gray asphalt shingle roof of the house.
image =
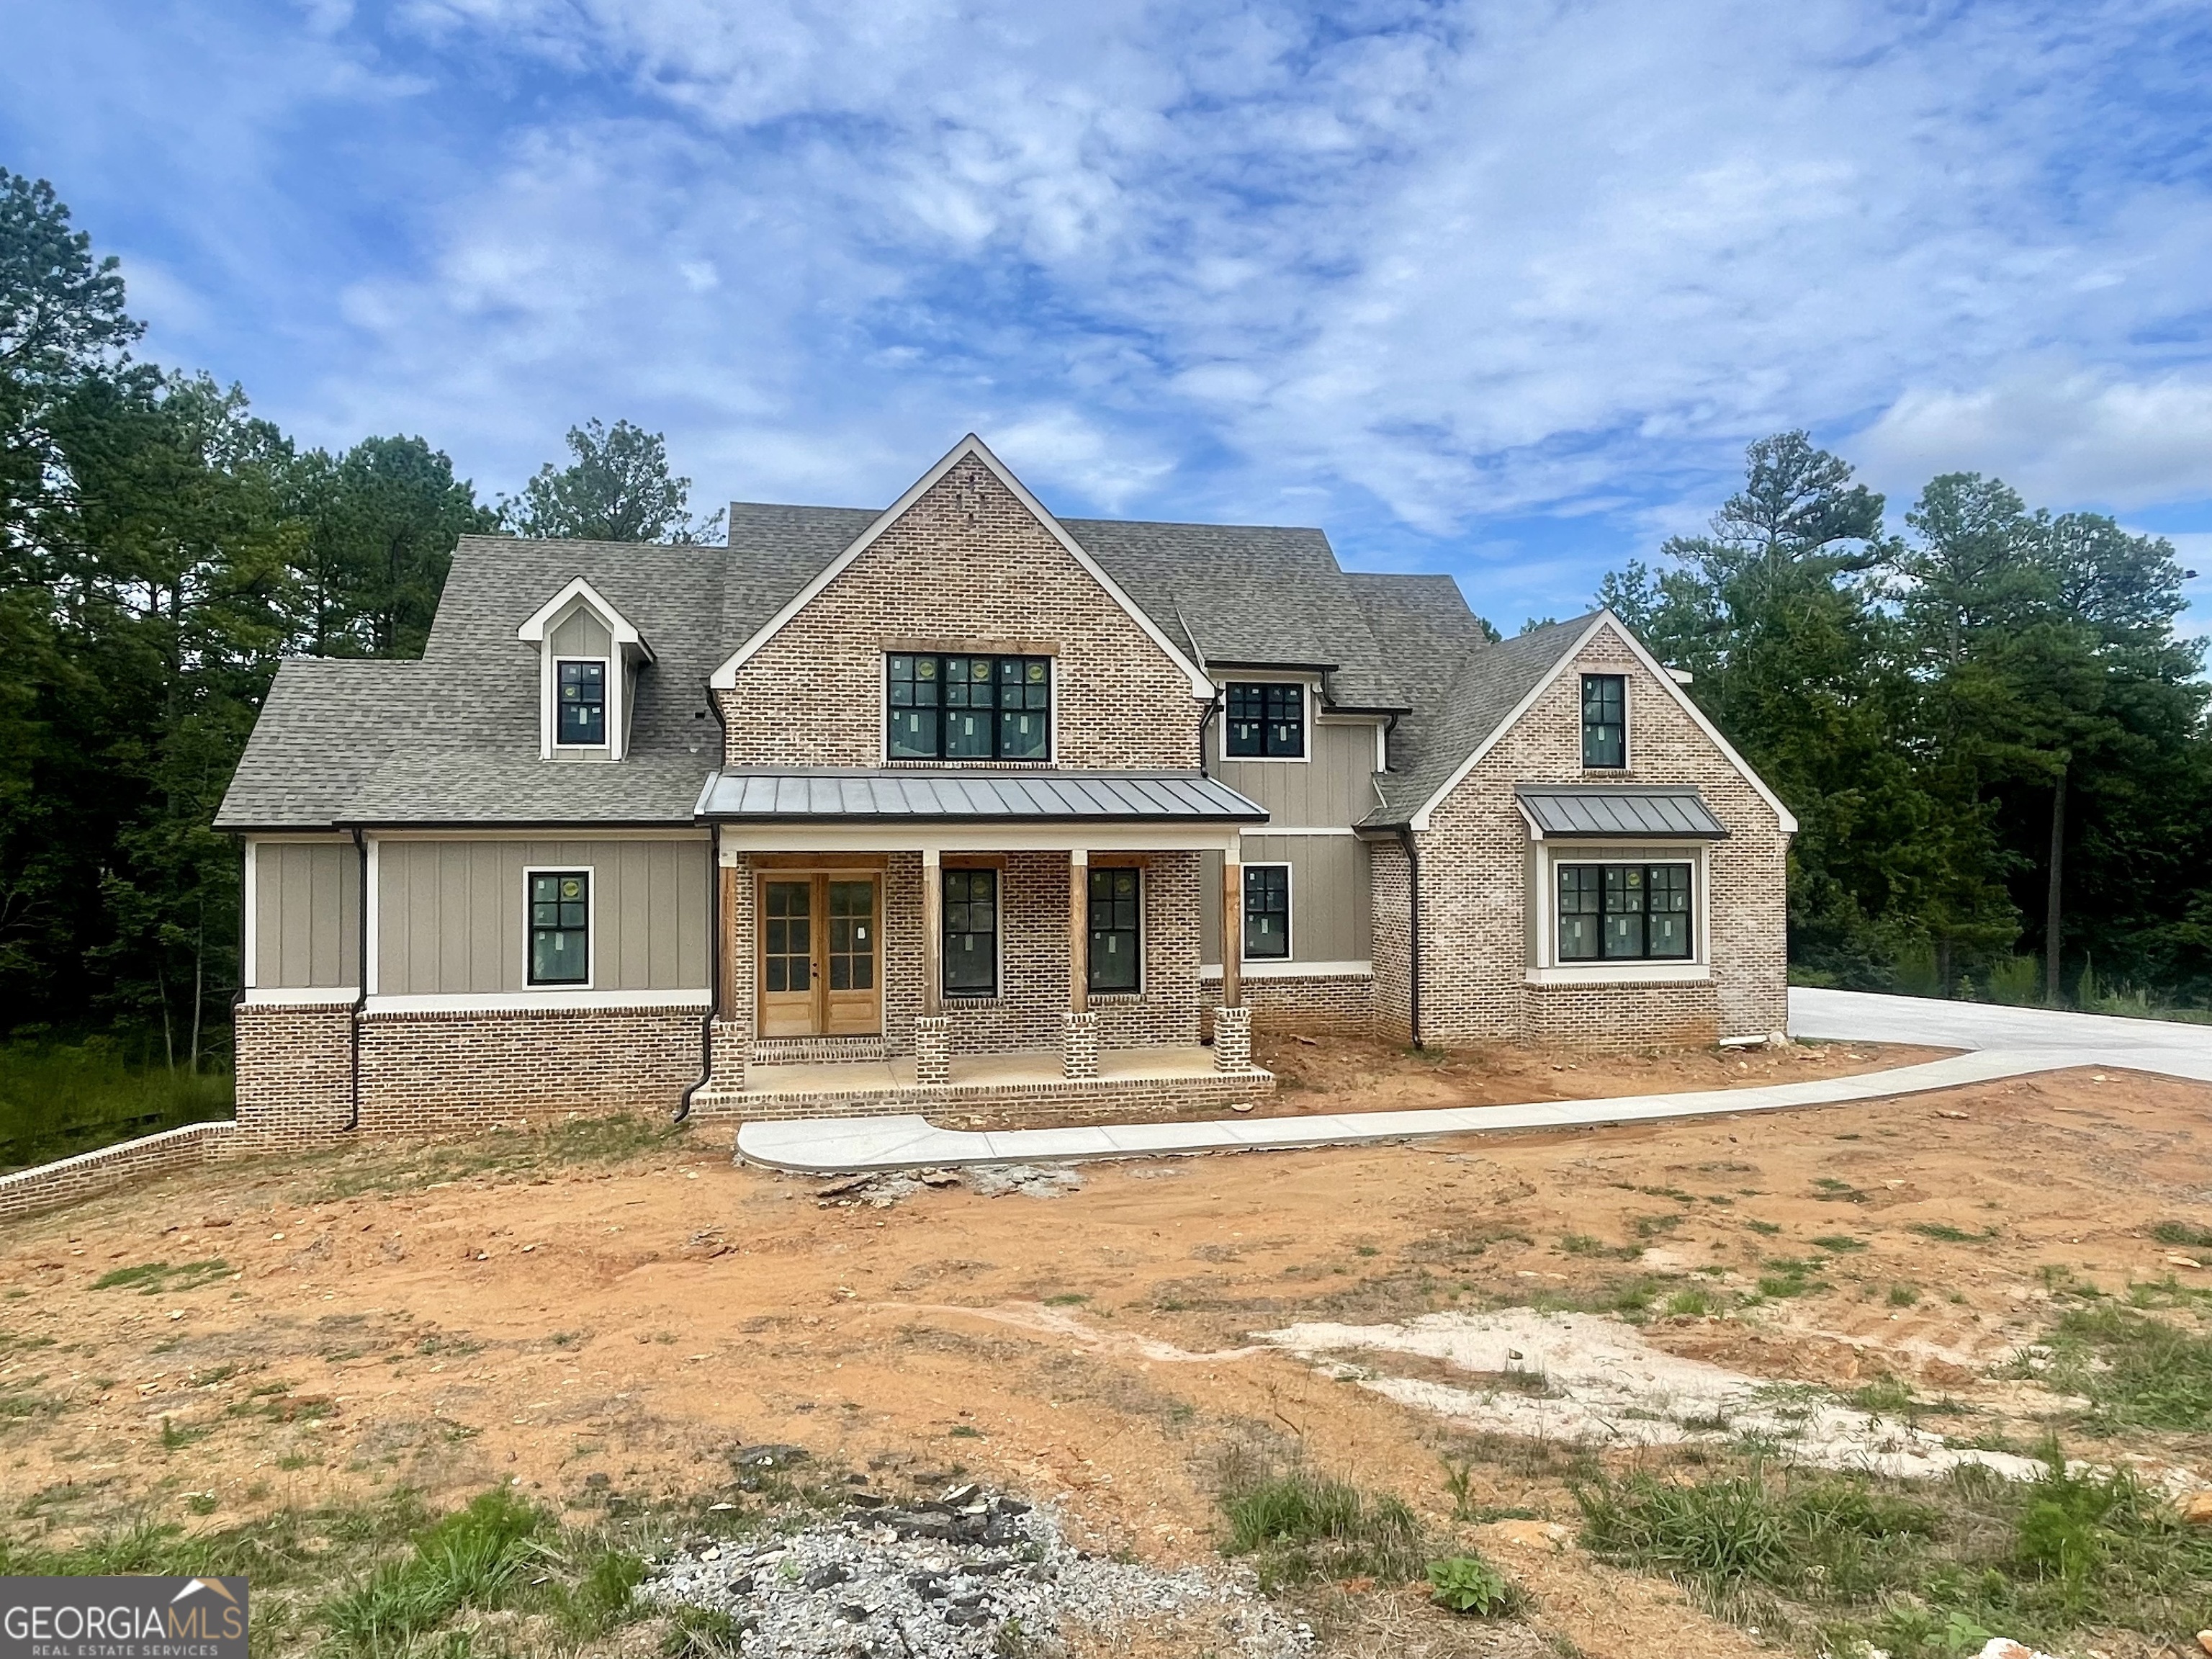
<svg viewBox="0 0 2212 1659">
<path fill-rule="evenodd" d="M 734 502 L 728 546 L 465 535 L 420 664 L 279 670 L 217 827 L 692 823 L 721 741 L 708 675 L 876 518 Z M 1327 706 L 1402 712 L 1376 823 L 1433 794 L 1582 628 L 1489 646 L 1451 577 L 1345 573 L 1314 529 L 1062 524 L 1186 653 L 1318 666 Z M 538 759 L 538 657 L 515 628 L 573 577 L 655 653 L 615 765 Z"/>
</svg>

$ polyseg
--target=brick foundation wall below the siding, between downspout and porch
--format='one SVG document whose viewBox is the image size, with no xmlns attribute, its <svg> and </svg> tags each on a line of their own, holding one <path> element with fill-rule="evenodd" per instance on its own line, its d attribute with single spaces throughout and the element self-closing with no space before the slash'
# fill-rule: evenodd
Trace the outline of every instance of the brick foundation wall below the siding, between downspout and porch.
<svg viewBox="0 0 2212 1659">
<path fill-rule="evenodd" d="M 701 1020 L 666 1006 L 372 1013 L 361 1022 L 361 1130 L 672 1115 L 699 1082 Z"/>
</svg>

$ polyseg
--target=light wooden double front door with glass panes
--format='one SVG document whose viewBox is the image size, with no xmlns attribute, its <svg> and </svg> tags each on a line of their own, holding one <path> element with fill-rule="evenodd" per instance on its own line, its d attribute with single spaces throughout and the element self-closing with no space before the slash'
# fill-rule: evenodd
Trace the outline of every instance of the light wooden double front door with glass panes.
<svg viewBox="0 0 2212 1659">
<path fill-rule="evenodd" d="M 763 1037 L 883 1031 L 883 876 L 779 869 L 759 891 Z"/>
</svg>

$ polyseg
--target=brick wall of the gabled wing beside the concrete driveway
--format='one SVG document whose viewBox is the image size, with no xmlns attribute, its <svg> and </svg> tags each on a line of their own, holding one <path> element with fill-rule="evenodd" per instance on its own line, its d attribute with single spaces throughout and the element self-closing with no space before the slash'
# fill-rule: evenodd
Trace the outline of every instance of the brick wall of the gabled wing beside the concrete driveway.
<svg viewBox="0 0 2212 1659">
<path fill-rule="evenodd" d="M 1628 759 L 1621 772 L 1582 770 L 1582 675 L 1628 679 Z M 1730 838 L 1708 854 L 1710 982 L 1526 984 L 1528 830 L 1515 783 L 1694 783 Z M 1721 750 L 1630 655 L 1601 630 L 1438 805 L 1418 834 L 1422 1000 L 1427 1042 L 1579 1035 L 1613 1026 L 1621 1042 L 1712 1042 L 1787 1024 L 1787 849 L 1781 821 Z M 1601 858 L 1601 849 L 1593 849 Z M 1378 860 L 1376 969 L 1383 971 Z M 1571 991 L 1573 995 L 1559 995 Z M 1380 998 L 1378 998 L 1380 1004 Z M 1590 1013 L 1606 1011 L 1606 1013 Z M 1626 1035 L 1628 1031 L 1635 1035 Z M 1663 1035 L 1661 1035 L 1663 1033 Z"/>
</svg>

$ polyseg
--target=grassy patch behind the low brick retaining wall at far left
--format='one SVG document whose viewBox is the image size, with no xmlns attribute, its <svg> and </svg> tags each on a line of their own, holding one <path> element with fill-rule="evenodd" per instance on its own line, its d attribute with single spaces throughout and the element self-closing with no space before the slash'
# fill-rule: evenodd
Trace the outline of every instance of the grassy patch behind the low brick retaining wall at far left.
<svg viewBox="0 0 2212 1659">
<path fill-rule="evenodd" d="M 0 1046 L 0 1170 L 223 1117 L 230 1073 L 221 1068 L 170 1071 L 150 1046 L 137 1053 L 106 1035 Z"/>
</svg>

